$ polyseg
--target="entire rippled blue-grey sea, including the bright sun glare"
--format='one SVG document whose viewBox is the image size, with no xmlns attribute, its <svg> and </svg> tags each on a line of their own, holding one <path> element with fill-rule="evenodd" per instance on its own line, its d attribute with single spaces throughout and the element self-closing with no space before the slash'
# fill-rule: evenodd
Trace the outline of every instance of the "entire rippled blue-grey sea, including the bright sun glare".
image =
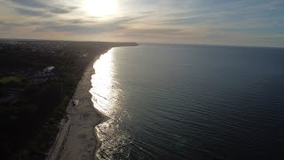
<svg viewBox="0 0 284 160">
<path fill-rule="evenodd" d="M 100 159 L 284 159 L 284 49 L 141 44 L 94 69 Z"/>
</svg>

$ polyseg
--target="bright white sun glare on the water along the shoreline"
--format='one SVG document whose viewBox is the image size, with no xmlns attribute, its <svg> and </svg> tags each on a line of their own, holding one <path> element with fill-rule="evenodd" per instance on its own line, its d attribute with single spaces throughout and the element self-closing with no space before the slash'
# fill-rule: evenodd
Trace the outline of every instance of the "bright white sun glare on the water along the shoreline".
<svg viewBox="0 0 284 160">
<path fill-rule="evenodd" d="M 96 155 L 99 159 L 114 159 L 114 156 L 130 154 L 130 149 L 127 148 L 130 137 L 120 129 L 122 117 L 129 115 L 118 101 L 123 99 L 123 92 L 115 79 L 114 49 L 101 55 L 93 68 L 95 74 L 91 76 L 91 100 L 94 108 L 110 117 L 103 124 L 96 126 L 98 138 L 102 142 Z"/>
</svg>

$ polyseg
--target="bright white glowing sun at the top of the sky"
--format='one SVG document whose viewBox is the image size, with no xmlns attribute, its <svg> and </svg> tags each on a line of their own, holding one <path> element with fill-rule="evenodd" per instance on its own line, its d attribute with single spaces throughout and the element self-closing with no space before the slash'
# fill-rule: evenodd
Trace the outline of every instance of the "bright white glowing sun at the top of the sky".
<svg viewBox="0 0 284 160">
<path fill-rule="evenodd" d="M 84 0 L 84 9 L 91 16 L 114 15 L 117 13 L 117 0 Z"/>
</svg>

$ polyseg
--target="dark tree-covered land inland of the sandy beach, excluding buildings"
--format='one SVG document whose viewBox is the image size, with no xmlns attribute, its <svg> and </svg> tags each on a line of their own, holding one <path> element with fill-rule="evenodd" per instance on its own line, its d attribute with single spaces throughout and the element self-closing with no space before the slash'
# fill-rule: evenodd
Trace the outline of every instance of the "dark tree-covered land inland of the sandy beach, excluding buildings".
<svg viewBox="0 0 284 160">
<path fill-rule="evenodd" d="M 49 43 L 51 46 L 56 44 Z M 110 47 L 122 45 L 99 42 L 59 44 L 63 47 L 52 54 L 44 51 L 27 52 L 20 47 L 10 46 L 0 51 L 0 68 L 7 68 L 2 72 L 0 70 L 0 91 L 7 92 L 19 87 L 19 84 L 24 89 L 13 100 L 0 100 L 0 149 L 4 159 L 43 159 L 59 131 L 59 122 L 66 115 L 67 104 L 72 99 L 84 69 Z M 81 56 L 82 52 L 89 54 L 84 57 Z M 28 84 L 25 74 L 33 75 L 48 66 L 56 68 L 57 80 Z M 14 70 L 24 73 L 17 74 L 22 76 L 6 76 L 5 73 Z"/>
</svg>

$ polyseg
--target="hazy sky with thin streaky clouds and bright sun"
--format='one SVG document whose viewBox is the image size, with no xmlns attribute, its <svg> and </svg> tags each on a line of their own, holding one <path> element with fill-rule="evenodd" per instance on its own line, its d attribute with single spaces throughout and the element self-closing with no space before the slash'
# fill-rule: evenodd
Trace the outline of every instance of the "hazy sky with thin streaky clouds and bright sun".
<svg viewBox="0 0 284 160">
<path fill-rule="evenodd" d="M 0 0 L 0 38 L 284 47 L 284 0 Z"/>
</svg>

